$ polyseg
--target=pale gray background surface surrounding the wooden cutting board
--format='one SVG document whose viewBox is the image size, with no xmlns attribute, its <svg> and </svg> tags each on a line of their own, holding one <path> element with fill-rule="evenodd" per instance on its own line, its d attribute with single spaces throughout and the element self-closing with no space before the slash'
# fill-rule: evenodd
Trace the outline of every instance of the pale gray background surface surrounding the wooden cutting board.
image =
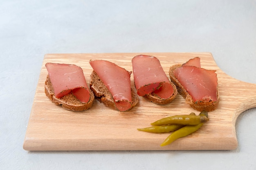
<svg viewBox="0 0 256 170">
<path fill-rule="evenodd" d="M 236 150 L 23 150 L 44 55 L 119 52 L 211 52 L 256 84 L 256 1 L 0 0 L 0 169 L 256 169 L 255 108 L 236 121 Z"/>
</svg>

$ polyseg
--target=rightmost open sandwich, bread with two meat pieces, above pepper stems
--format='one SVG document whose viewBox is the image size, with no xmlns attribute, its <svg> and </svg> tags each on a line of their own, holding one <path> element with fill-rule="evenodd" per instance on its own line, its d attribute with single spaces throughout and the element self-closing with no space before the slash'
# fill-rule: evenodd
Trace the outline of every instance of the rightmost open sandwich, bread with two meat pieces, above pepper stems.
<svg viewBox="0 0 256 170">
<path fill-rule="evenodd" d="M 195 110 L 211 112 L 218 108 L 220 98 L 216 70 L 201 68 L 200 57 L 171 66 L 169 76 L 186 103 Z"/>
</svg>

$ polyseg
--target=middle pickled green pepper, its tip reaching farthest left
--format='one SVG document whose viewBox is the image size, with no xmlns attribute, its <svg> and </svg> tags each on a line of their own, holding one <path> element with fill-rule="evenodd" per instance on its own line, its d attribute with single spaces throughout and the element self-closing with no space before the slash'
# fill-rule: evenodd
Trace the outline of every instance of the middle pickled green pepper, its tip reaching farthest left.
<svg viewBox="0 0 256 170">
<path fill-rule="evenodd" d="M 192 112 L 189 115 L 195 115 L 195 113 Z M 171 125 L 164 125 L 164 126 L 151 126 L 148 128 L 138 128 L 137 130 L 144 131 L 144 132 L 164 133 L 164 132 L 173 132 L 182 127 L 184 127 L 184 125 L 171 124 Z"/>
</svg>

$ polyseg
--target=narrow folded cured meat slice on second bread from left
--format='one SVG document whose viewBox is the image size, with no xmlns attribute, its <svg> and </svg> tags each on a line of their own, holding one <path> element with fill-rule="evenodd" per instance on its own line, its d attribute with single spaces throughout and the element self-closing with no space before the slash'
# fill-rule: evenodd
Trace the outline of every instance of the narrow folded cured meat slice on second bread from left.
<svg viewBox="0 0 256 170">
<path fill-rule="evenodd" d="M 91 60 L 89 63 L 110 91 L 117 109 L 129 110 L 132 106 L 130 73 L 106 60 Z"/>
</svg>

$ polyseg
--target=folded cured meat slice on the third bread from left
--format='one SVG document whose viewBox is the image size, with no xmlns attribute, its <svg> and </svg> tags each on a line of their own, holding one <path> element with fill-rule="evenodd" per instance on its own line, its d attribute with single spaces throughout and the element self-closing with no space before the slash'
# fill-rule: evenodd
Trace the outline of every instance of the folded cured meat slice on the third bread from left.
<svg viewBox="0 0 256 170">
<path fill-rule="evenodd" d="M 162 99 L 168 99 L 173 95 L 173 87 L 156 57 L 149 55 L 133 57 L 132 70 L 139 96 L 155 93 Z"/>
</svg>

